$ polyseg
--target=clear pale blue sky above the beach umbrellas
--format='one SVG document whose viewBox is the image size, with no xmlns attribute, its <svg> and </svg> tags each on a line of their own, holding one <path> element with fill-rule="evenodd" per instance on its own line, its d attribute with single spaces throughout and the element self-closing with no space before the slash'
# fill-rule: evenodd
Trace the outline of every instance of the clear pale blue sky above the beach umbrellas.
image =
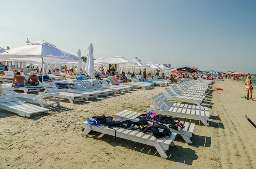
<svg viewBox="0 0 256 169">
<path fill-rule="evenodd" d="M 256 73 L 256 0 L 12 0 L 0 16 L 3 48 L 26 45 L 12 29 L 72 54 Z"/>
</svg>

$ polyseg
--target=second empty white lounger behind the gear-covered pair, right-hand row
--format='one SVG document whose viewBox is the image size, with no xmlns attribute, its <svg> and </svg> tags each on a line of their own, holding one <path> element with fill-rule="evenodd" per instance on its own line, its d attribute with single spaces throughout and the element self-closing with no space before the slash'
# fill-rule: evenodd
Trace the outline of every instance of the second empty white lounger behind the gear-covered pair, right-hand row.
<svg viewBox="0 0 256 169">
<path fill-rule="evenodd" d="M 168 92 L 169 95 L 166 95 L 166 97 L 169 100 L 180 100 L 180 101 L 186 101 L 186 102 L 192 102 L 196 103 L 198 106 L 201 106 L 201 103 L 204 100 L 204 96 L 199 95 L 175 95 L 171 89 L 167 88 L 166 92 Z M 198 96 L 198 97 L 197 97 Z"/>
</svg>

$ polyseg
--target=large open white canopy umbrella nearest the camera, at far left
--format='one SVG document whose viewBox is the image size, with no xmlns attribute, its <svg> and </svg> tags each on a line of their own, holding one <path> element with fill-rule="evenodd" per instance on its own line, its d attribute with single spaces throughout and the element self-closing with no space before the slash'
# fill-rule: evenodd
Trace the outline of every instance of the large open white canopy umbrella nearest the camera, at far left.
<svg viewBox="0 0 256 169">
<path fill-rule="evenodd" d="M 29 60 L 34 62 L 41 62 L 41 58 L 44 58 L 44 61 L 47 63 L 56 61 L 81 60 L 79 57 L 64 52 L 56 48 L 56 46 L 45 42 L 44 40 L 30 43 L 27 46 L 10 49 L 8 50 L 8 53 L 4 52 L 0 54 L 0 59 L 5 60 Z"/>
</svg>

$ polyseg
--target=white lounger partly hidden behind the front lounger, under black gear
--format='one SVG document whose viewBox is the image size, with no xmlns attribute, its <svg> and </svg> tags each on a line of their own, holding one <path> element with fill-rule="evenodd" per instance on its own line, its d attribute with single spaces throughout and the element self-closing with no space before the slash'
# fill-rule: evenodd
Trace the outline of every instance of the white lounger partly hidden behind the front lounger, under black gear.
<svg viewBox="0 0 256 169">
<path fill-rule="evenodd" d="M 139 116 L 141 115 L 141 113 L 137 113 L 137 112 L 132 112 L 132 111 L 128 111 L 128 110 L 124 110 L 122 112 L 119 112 L 115 115 L 116 120 L 132 120 L 132 121 L 139 121 Z M 192 141 L 190 140 L 190 138 L 192 137 L 192 134 L 194 133 L 194 129 L 195 129 L 195 123 L 188 123 L 188 122 L 183 122 L 180 121 L 180 123 L 183 124 L 183 129 L 180 131 L 177 131 L 175 129 L 170 128 L 171 132 L 175 132 L 178 135 L 181 135 L 181 137 L 183 137 L 183 139 L 186 141 L 186 143 L 191 144 Z"/>
</svg>

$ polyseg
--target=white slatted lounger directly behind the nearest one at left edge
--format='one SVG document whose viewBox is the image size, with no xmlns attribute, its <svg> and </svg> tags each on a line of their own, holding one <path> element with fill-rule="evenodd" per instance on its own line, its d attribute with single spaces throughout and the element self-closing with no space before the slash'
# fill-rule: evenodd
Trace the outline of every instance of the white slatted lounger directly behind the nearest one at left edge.
<svg viewBox="0 0 256 169">
<path fill-rule="evenodd" d="M 57 104 L 61 106 L 60 99 L 57 99 L 54 94 L 48 95 L 31 95 L 26 93 L 17 93 L 16 94 L 19 100 L 40 104 L 41 107 L 51 106 Z M 47 101 L 52 101 L 53 103 L 47 103 Z"/>
</svg>

